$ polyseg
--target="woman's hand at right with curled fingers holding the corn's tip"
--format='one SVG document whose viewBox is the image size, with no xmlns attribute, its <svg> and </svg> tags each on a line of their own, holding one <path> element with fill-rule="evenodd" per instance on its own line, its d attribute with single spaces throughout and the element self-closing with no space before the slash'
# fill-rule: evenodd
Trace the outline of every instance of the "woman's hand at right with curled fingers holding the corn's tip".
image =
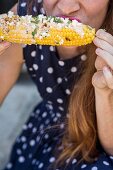
<svg viewBox="0 0 113 170">
<path fill-rule="evenodd" d="M 97 72 L 93 75 L 92 84 L 95 89 L 113 92 L 113 36 L 100 29 L 93 42 L 97 46 L 95 61 Z"/>
</svg>

